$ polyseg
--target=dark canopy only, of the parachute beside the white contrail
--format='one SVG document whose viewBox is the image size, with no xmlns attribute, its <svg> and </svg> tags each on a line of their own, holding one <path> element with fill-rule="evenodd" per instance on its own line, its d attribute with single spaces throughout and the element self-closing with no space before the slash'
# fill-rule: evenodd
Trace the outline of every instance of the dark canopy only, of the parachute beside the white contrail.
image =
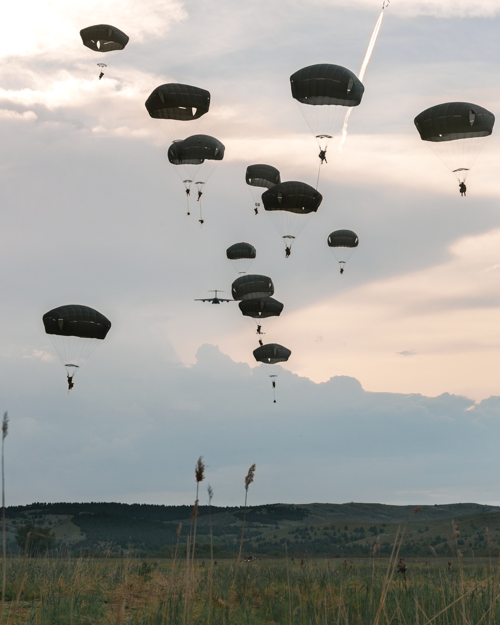
<svg viewBox="0 0 500 625">
<path fill-rule="evenodd" d="M 290 76 L 292 96 L 302 104 L 357 106 L 364 86 L 359 78 L 341 65 L 318 63 L 299 69 Z"/>
</svg>

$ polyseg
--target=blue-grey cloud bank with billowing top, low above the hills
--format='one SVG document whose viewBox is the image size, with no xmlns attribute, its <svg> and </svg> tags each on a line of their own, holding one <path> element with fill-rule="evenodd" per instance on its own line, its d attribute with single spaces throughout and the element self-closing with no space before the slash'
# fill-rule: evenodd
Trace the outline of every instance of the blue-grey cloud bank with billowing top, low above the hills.
<svg viewBox="0 0 500 625">
<path fill-rule="evenodd" d="M 440 501 L 462 501 L 461 489 L 472 501 L 489 499 L 499 398 L 474 404 L 447 393 L 368 392 L 353 377 L 314 384 L 275 366 L 273 404 L 269 367 L 234 362 L 211 344 L 199 347 L 190 367 L 152 356 L 140 343 L 116 347 L 113 363 L 102 357 L 105 346 L 93 354 L 71 396 L 59 363 L 31 375 L 36 407 L 0 362 L 11 417 L 10 503 L 189 503 L 200 455 L 221 505 L 239 501 L 252 462 L 252 503 L 422 504 L 437 491 Z M 445 476 L 437 485 L 436 475 Z"/>
</svg>

